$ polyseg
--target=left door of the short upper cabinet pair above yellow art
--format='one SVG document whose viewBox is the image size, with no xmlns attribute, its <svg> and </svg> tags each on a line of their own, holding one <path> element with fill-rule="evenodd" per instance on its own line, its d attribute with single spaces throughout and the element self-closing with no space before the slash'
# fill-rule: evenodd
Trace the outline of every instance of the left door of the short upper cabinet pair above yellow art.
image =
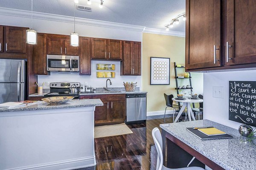
<svg viewBox="0 0 256 170">
<path fill-rule="evenodd" d="M 107 39 L 92 38 L 92 59 L 107 59 Z"/>
</svg>

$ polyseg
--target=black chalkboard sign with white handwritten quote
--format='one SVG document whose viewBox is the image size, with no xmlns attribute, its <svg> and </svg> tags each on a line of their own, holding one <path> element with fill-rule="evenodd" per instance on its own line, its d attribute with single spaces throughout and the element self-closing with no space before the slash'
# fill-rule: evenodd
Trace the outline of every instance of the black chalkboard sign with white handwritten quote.
<svg viewBox="0 0 256 170">
<path fill-rule="evenodd" d="M 256 126 L 256 82 L 229 81 L 229 120 Z"/>
</svg>

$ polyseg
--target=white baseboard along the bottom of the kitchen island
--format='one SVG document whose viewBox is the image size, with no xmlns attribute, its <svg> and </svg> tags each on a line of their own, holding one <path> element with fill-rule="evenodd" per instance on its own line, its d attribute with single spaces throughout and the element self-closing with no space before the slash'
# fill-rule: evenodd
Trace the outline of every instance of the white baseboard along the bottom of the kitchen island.
<svg viewBox="0 0 256 170">
<path fill-rule="evenodd" d="M 47 164 L 38 164 L 29 167 L 15 167 L 6 170 L 74 170 L 96 165 L 95 156 L 72 159 L 66 161 L 52 162 Z"/>
</svg>

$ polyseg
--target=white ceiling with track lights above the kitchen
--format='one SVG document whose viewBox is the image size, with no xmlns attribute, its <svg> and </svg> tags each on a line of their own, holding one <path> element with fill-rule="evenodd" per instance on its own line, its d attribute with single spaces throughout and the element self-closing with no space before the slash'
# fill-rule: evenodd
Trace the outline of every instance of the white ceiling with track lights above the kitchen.
<svg viewBox="0 0 256 170">
<path fill-rule="evenodd" d="M 91 2 L 92 12 L 76 10 L 76 17 L 165 29 L 172 18 L 185 13 L 185 0 L 104 0 L 103 8 L 100 0 Z M 78 5 L 89 6 L 87 0 Z M 0 0 L 0 7 L 31 11 L 31 0 Z M 74 16 L 74 0 L 33 0 L 33 11 Z M 185 21 L 170 31 L 185 32 Z"/>
</svg>

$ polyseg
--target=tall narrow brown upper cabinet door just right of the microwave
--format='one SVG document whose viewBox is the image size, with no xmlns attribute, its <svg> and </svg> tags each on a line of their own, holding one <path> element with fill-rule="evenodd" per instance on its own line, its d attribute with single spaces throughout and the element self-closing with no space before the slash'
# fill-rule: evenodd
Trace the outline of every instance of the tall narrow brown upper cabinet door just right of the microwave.
<svg viewBox="0 0 256 170">
<path fill-rule="evenodd" d="M 90 38 L 79 38 L 80 75 L 91 75 Z"/>
</svg>

